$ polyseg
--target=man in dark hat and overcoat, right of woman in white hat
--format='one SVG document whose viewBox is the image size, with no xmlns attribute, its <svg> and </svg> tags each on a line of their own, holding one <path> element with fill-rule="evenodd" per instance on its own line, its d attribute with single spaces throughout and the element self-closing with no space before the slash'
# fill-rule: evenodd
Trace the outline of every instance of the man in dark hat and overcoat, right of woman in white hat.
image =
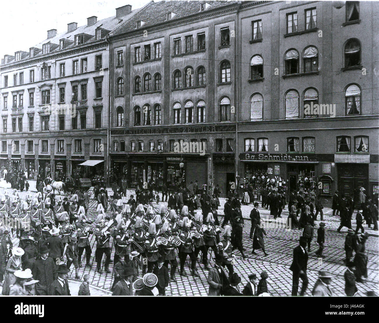
<svg viewBox="0 0 379 323">
<path fill-rule="evenodd" d="M 36 283 L 36 295 L 53 295 L 52 283 L 58 277 L 55 262 L 52 258 L 48 257 L 49 251 L 47 246 L 42 245 L 39 248 L 39 254 L 41 258 L 37 259 L 31 268 L 33 279 L 39 281 Z"/>
</svg>

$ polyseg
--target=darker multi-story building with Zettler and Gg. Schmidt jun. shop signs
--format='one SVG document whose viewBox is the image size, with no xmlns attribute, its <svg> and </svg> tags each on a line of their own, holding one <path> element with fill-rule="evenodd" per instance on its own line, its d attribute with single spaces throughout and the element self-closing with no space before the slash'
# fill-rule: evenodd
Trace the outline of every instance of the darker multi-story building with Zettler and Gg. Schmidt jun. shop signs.
<svg viewBox="0 0 379 323">
<path fill-rule="evenodd" d="M 111 169 L 134 185 L 197 179 L 225 191 L 268 172 L 289 190 L 376 192 L 377 9 L 149 3 L 110 34 Z"/>
</svg>

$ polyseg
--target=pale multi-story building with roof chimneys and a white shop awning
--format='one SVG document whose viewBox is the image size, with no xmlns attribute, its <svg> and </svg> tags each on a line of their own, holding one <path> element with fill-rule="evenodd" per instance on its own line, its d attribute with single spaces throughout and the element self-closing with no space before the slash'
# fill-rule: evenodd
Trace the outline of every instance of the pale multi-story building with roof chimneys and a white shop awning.
<svg viewBox="0 0 379 323">
<path fill-rule="evenodd" d="M 67 31 L 5 55 L 1 61 L 1 167 L 26 168 L 29 178 L 106 176 L 108 128 L 107 36 L 139 9 Z M 89 167 L 79 167 L 84 163 Z"/>
</svg>

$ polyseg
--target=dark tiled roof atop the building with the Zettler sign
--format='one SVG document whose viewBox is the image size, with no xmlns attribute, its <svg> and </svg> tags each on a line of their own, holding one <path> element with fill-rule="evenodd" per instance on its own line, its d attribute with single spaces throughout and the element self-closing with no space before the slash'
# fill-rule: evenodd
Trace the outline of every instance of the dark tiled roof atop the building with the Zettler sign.
<svg viewBox="0 0 379 323">
<path fill-rule="evenodd" d="M 204 1 L 207 2 L 207 1 Z M 132 19 L 123 23 L 110 33 L 110 36 L 127 33 L 128 31 L 136 30 L 138 21 L 144 21 L 145 24 L 141 28 L 152 26 L 166 21 L 166 14 L 172 12 L 175 16 L 172 19 L 189 16 L 200 11 L 202 1 L 160 1 L 150 2 L 141 11 L 136 13 Z M 237 1 L 208 1 L 210 6 L 206 10 L 218 8 Z"/>
</svg>

